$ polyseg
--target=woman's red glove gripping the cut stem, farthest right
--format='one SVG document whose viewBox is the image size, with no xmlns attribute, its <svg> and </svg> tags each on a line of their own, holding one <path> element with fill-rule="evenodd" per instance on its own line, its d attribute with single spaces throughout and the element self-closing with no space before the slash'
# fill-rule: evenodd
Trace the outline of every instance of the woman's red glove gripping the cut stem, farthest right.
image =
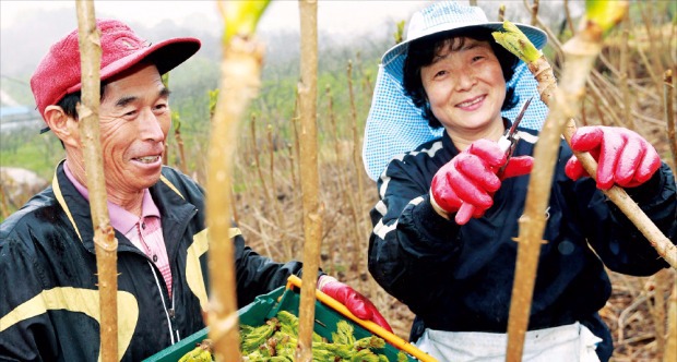
<svg viewBox="0 0 677 362">
<path fill-rule="evenodd" d="M 661 157 L 646 140 L 633 131 L 613 126 L 582 126 L 571 137 L 571 148 L 589 152 L 597 161 L 597 189 L 614 183 L 636 188 L 649 181 L 661 167 Z M 581 162 L 571 156 L 565 172 L 572 180 L 589 177 Z"/>
</svg>

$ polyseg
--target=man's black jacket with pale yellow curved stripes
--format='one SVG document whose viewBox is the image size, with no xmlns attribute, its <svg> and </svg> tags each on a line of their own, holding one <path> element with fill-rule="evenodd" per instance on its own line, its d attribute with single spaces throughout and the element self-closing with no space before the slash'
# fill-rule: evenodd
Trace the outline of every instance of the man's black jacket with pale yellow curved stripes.
<svg viewBox="0 0 677 362">
<path fill-rule="evenodd" d="M 140 361 L 201 328 L 206 303 L 207 230 L 203 190 L 163 168 L 150 189 L 163 226 L 173 297 L 144 253 L 116 230 L 118 336 L 126 361 Z M 240 306 L 299 274 L 273 263 L 231 229 Z M 52 185 L 0 226 L 0 360 L 96 361 L 99 310 L 87 201 L 59 165 Z"/>
</svg>

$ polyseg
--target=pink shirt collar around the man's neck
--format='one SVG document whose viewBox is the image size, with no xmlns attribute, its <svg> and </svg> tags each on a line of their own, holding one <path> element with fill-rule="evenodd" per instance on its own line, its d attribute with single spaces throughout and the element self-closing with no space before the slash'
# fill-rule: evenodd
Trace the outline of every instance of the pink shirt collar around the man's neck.
<svg viewBox="0 0 677 362">
<path fill-rule="evenodd" d="M 75 190 L 78 190 L 78 192 L 88 202 L 90 192 L 87 191 L 87 188 L 85 188 L 82 183 L 78 182 L 73 173 L 71 173 L 71 170 L 68 168 L 68 161 L 63 162 L 63 171 L 66 172 L 66 176 L 71 181 L 71 183 L 73 183 L 73 185 L 75 186 Z M 141 219 L 152 216 L 159 218 L 159 209 L 157 208 L 157 205 L 155 205 L 155 202 L 153 201 L 149 189 L 143 190 L 143 201 L 141 203 L 141 218 L 126 210 L 120 205 L 114 204 L 109 201 L 107 202 L 107 205 L 110 218 L 110 226 L 114 229 L 122 232 L 123 234 L 127 234 L 134 226 L 136 226 L 136 224 Z"/>
</svg>

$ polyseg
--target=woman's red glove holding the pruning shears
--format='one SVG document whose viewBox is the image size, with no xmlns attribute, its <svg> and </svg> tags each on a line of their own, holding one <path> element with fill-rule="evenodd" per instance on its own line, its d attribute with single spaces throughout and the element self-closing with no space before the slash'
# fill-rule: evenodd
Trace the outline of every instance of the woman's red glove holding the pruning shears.
<svg viewBox="0 0 677 362">
<path fill-rule="evenodd" d="M 494 204 L 494 193 L 501 180 L 531 172 L 531 156 L 511 157 L 499 178 L 498 170 L 506 164 L 506 153 L 498 143 L 477 140 L 442 166 L 430 185 L 433 208 L 442 216 L 456 213 L 454 220 L 466 224 L 471 217 L 482 217 Z"/>
</svg>

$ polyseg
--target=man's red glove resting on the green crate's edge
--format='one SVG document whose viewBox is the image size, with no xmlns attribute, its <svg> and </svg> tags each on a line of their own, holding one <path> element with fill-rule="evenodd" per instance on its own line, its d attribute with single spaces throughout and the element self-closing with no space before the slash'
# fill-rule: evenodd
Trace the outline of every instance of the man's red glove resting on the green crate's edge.
<svg viewBox="0 0 677 362">
<path fill-rule="evenodd" d="M 379 313 L 373 303 L 365 295 L 358 293 L 355 289 L 336 280 L 336 278 L 323 275 L 318 280 L 318 289 L 326 295 L 335 299 L 339 303 L 345 305 L 356 317 L 365 321 L 371 321 L 388 331 L 392 333 L 385 318 Z"/>
</svg>

